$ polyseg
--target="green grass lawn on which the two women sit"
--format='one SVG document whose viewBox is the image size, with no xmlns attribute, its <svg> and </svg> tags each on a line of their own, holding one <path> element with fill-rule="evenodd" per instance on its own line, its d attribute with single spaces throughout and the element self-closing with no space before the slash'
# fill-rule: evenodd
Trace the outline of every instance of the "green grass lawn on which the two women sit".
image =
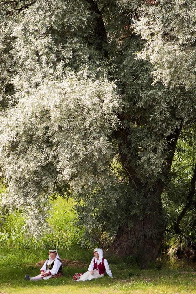
<svg viewBox="0 0 196 294">
<path fill-rule="evenodd" d="M 1 248 L 2 249 L 2 248 Z M 3 251 L 3 250 L 2 250 Z M 140 270 L 126 260 L 107 258 L 114 278 L 107 274 L 100 279 L 87 282 L 75 282 L 72 276 L 76 272 L 86 271 L 87 268 L 64 267 L 64 277 L 57 279 L 27 282 L 24 275 L 37 275 L 39 268 L 35 263 L 47 258 L 46 253 L 37 254 L 30 250 L 7 248 L 0 258 L 0 293 L 4 294 L 196 294 L 196 273 L 194 264 L 163 264 L 160 267 L 153 265 L 148 270 Z M 85 251 L 86 252 L 86 251 Z M 70 260 L 89 261 L 92 251 L 76 250 L 77 259 L 73 252 L 59 252 L 62 258 Z M 65 254 L 67 256 L 65 257 Z M 81 256 L 81 259 L 79 259 Z M 72 257 L 72 258 L 71 258 Z M 87 262 L 87 263 L 89 263 Z"/>
</svg>

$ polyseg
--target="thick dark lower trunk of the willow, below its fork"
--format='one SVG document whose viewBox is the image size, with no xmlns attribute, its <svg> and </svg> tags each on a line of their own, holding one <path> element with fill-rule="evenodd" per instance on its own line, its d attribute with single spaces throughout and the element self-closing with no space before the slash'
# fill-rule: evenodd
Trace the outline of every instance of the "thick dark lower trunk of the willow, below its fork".
<svg viewBox="0 0 196 294">
<path fill-rule="evenodd" d="M 150 213 L 131 216 L 119 227 L 109 253 L 119 257 L 138 257 L 141 268 L 147 268 L 148 263 L 157 258 L 165 232 L 161 215 L 160 201 L 154 201 Z"/>
</svg>

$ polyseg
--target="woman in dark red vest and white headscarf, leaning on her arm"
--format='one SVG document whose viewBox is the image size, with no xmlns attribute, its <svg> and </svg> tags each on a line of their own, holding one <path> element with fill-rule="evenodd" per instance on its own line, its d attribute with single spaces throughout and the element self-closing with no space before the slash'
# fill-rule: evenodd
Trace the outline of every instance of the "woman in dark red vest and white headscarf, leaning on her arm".
<svg viewBox="0 0 196 294">
<path fill-rule="evenodd" d="M 91 263 L 88 267 L 88 271 L 86 273 L 76 273 L 73 276 L 73 279 L 75 281 L 79 282 L 79 281 L 92 280 L 95 278 L 101 278 L 104 276 L 105 271 L 110 278 L 113 278 L 111 270 L 109 269 L 109 264 L 107 262 L 107 259 L 103 257 L 103 250 L 99 248 L 95 248 L 93 252 L 94 252 L 94 257 L 91 260 Z"/>
</svg>

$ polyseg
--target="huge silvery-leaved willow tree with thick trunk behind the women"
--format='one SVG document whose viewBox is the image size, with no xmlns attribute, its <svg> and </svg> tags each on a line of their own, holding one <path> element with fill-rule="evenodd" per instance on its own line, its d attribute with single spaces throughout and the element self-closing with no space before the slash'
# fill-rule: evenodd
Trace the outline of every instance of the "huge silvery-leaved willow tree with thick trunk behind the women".
<svg viewBox="0 0 196 294">
<path fill-rule="evenodd" d="M 195 123 L 195 1 L 0 1 L 2 204 L 34 233 L 51 195 L 110 252 L 155 260 L 161 194 Z"/>
</svg>

